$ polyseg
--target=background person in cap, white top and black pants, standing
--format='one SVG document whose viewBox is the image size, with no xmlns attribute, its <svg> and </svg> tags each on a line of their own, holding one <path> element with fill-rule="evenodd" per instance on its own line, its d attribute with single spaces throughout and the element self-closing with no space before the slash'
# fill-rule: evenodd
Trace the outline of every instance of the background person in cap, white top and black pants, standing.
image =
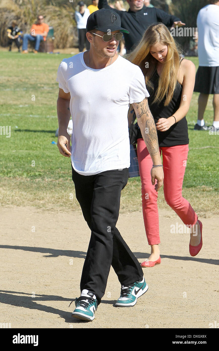
<svg viewBox="0 0 219 351">
<path fill-rule="evenodd" d="M 78 5 L 79 5 L 79 11 L 75 11 L 74 18 L 75 18 L 75 21 L 77 22 L 77 28 L 78 28 L 78 48 L 79 48 L 79 52 L 82 52 L 84 50 L 84 45 L 86 46 L 87 50 L 89 50 L 90 48 L 90 43 L 86 37 L 86 24 L 87 24 L 87 19 L 90 15 L 90 12 L 88 8 L 85 7 L 85 4 L 83 1 L 80 1 Z"/>
</svg>

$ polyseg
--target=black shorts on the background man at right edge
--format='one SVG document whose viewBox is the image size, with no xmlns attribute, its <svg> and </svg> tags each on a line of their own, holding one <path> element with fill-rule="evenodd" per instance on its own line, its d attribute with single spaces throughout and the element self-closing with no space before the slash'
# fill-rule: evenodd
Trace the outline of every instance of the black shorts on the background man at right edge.
<svg viewBox="0 0 219 351">
<path fill-rule="evenodd" d="M 195 76 L 194 91 L 203 94 L 219 94 L 219 66 L 199 66 Z"/>
</svg>

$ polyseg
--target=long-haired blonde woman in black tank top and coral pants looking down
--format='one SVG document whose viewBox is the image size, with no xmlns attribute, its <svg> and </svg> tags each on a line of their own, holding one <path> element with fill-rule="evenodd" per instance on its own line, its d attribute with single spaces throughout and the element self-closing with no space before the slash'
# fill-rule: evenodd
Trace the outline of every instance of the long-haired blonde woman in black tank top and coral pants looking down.
<svg viewBox="0 0 219 351">
<path fill-rule="evenodd" d="M 190 227 L 189 251 L 196 256 L 202 247 L 202 223 L 190 203 L 182 197 L 183 178 L 188 155 L 189 110 L 195 83 L 195 66 L 181 59 L 175 41 L 163 24 L 151 25 L 129 57 L 145 75 L 150 93 L 148 105 L 158 133 L 164 168 L 164 196 L 167 204 Z M 130 117 L 130 116 L 129 116 Z M 161 263 L 157 192 L 151 184 L 152 160 L 141 135 L 138 161 L 142 186 L 142 210 L 151 255 L 142 267 Z"/>
</svg>

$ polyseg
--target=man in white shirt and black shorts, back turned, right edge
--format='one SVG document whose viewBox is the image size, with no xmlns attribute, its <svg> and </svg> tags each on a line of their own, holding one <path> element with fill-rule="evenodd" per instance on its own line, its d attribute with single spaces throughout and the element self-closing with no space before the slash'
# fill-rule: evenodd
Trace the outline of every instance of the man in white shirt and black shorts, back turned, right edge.
<svg viewBox="0 0 219 351">
<path fill-rule="evenodd" d="M 204 112 L 209 94 L 213 96 L 213 129 L 219 130 L 219 1 L 200 9 L 197 17 L 199 68 L 194 91 L 199 92 L 198 121 L 195 130 L 208 130 Z M 212 129 L 212 127 L 210 127 Z"/>
</svg>

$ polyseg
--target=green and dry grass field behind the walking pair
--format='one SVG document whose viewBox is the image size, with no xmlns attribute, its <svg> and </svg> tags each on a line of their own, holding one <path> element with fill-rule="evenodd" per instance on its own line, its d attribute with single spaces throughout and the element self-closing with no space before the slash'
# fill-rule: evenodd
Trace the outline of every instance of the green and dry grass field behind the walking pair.
<svg viewBox="0 0 219 351">
<path fill-rule="evenodd" d="M 11 126 L 11 137 L 0 135 L 0 204 L 77 210 L 68 158 L 59 154 L 56 101 L 57 68 L 69 54 L 0 53 L 0 126 Z M 198 67 L 198 59 L 191 58 Z M 190 152 L 183 196 L 204 217 L 217 214 L 219 136 L 193 130 L 198 93 L 187 114 Z M 212 96 L 205 122 L 212 125 Z M 121 211 L 141 208 L 140 178 L 132 178 L 122 192 Z M 72 198 L 73 194 L 73 198 Z M 167 206 L 162 190 L 159 207 Z"/>
</svg>

